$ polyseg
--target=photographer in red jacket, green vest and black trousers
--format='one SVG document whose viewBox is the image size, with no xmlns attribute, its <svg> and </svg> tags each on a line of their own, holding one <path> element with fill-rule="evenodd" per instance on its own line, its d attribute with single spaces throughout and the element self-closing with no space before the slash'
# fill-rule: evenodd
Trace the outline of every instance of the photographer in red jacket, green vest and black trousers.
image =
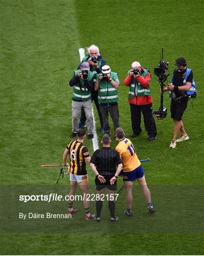
<svg viewBox="0 0 204 256">
<path fill-rule="evenodd" d="M 128 75 L 124 80 L 125 85 L 129 86 L 128 101 L 130 103 L 133 129 L 133 134 L 130 137 L 134 138 L 142 132 L 140 127 L 142 111 L 144 127 L 149 135 L 149 141 L 156 139 L 157 135 L 152 112 L 152 96 L 149 88 L 150 81 L 150 72 L 137 61 L 132 63 L 132 69 L 128 71 Z"/>
</svg>

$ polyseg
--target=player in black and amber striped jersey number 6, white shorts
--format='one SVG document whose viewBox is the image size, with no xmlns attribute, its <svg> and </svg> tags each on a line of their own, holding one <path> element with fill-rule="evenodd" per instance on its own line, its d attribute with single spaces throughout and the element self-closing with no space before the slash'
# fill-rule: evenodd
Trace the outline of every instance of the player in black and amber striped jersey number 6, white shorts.
<svg viewBox="0 0 204 256">
<path fill-rule="evenodd" d="M 89 206 L 90 201 L 87 201 L 88 197 L 88 174 L 86 172 L 86 164 L 85 161 L 90 163 L 90 155 L 88 152 L 88 148 L 83 145 L 85 140 L 85 130 L 79 129 L 77 132 L 77 139 L 72 140 L 68 146 L 66 147 L 63 154 L 64 166 L 69 166 L 67 163 L 67 157 L 69 155 L 70 166 L 69 166 L 69 178 L 70 178 L 70 196 L 74 196 L 77 188 L 77 183 L 81 188 L 81 191 L 84 194 L 84 207 L 85 207 L 85 219 L 94 218 L 95 215 L 90 214 Z M 72 197 L 71 197 L 72 198 Z M 73 209 L 73 200 L 68 200 L 68 214 L 72 214 L 77 212 L 78 210 Z"/>
</svg>

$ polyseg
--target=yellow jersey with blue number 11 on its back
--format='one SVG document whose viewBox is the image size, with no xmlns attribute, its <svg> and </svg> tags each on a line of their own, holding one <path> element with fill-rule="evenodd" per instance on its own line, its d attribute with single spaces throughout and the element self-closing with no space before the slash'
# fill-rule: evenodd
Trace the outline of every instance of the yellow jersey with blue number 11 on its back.
<svg viewBox="0 0 204 256">
<path fill-rule="evenodd" d="M 122 160 L 123 172 L 131 172 L 141 165 L 136 155 L 135 148 L 129 139 L 124 138 L 120 140 L 115 149 L 118 151 Z"/>
</svg>

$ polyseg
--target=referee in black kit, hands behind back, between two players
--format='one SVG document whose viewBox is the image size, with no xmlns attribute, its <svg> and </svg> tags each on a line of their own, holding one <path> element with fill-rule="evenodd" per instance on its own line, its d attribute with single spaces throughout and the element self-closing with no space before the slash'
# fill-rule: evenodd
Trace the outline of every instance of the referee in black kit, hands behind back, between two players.
<svg viewBox="0 0 204 256">
<path fill-rule="evenodd" d="M 114 222 L 119 219 L 118 216 L 115 216 L 114 191 L 117 190 L 117 177 L 122 169 L 122 162 L 119 153 L 110 148 L 111 139 L 107 134 L 102 137 L 101 143 L 102 148 L 93 153 L 90 161 L 90 166 L 96 175 L 96 190 L 100 195 L 100 200 L 96 201 L 96 217 L 94 219 L 97 222 L 101 220 L 102 201 L 105 199 L 104 192 L 107 188 L 110 221 Z M 116 165 L 118 165 L 117 171 Z"/>
</svg>

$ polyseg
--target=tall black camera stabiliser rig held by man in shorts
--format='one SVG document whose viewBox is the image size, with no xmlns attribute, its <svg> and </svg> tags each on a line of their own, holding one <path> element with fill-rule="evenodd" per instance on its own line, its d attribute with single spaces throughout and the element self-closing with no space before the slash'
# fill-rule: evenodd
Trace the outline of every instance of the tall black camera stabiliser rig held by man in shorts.
<svg viewBox="0 0 204 256">
<path fill-rule="evenodd" d="M 163 47 L 161 48 L 161 60 L 159 62 L 158 67 L 154 68 L 154 74 L 156 75 L 156 80 L 160 83 L 161 86 L 161 94 L 160 94 L 160 107 L 159 110 L 154 111 L 153 115 L 158 119 L 163 119 L 167 116 L 167 108 L 163 107 L 163 87 L 164 82 L 167 80 L 169 76 L 168 71 L 169 62 L 163 60 Z"/>
</svg>

